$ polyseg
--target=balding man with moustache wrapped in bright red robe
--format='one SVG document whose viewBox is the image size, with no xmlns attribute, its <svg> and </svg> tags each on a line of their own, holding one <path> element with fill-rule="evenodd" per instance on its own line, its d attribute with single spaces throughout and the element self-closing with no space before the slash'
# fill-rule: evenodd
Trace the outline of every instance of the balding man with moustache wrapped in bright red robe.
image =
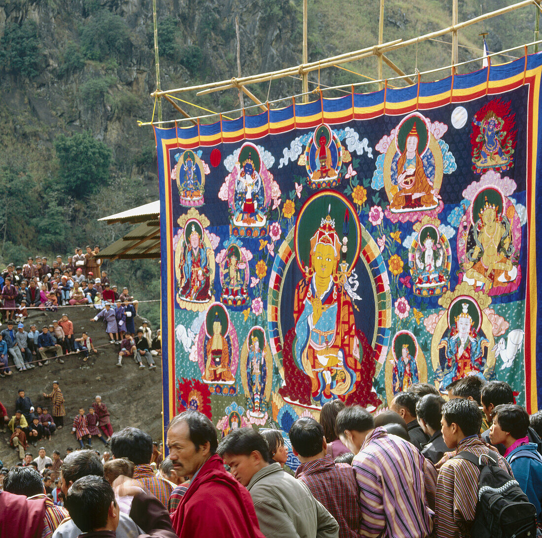
<svg viewBox="0 0 542 538">
<path fill-rule="evenodd" d="M 188 476 L 190 486 L 171 514 L 179 538 L 264 538 L 250 493 L 224 469 L 216 452 L 215 426 L 197 411 L 171 420 L 167 447 L 177 476 Z"/>
</svg>

